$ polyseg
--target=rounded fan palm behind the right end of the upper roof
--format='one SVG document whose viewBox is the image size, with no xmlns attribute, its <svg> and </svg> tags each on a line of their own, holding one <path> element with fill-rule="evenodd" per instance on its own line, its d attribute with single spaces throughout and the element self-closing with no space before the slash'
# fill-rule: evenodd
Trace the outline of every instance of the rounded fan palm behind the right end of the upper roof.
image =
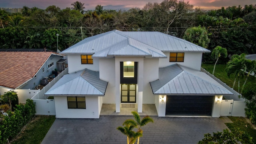
<svg viewBox="0 0 256 144">
<path fill-rule="evenodd" d="M 188 28 L 183 38 L 203 48 L 207 48 L 210 42 L 206 29 L 201 26 Z"/>
</svg>

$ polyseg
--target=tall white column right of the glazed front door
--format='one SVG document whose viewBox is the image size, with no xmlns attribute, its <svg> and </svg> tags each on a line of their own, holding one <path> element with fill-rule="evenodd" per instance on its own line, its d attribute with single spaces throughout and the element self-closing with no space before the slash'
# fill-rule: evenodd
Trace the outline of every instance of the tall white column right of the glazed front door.
<svg viewBox="0 0 256 144">
<path fill-rule="evenodd" d="M 142 112 L 144 60 L 138 62 L 138 112 Z"/>
</svg>

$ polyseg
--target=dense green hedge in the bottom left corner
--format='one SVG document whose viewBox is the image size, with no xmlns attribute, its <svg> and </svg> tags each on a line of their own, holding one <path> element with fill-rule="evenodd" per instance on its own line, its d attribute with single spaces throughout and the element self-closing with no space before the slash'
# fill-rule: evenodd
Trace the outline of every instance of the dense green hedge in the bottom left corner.
<svg viewBox="0 0 256 144">
<path fill-rule="evenodd" d="M 14 112 L 7 113 L 8 116 L 0 115 L 0 144 L 6 144 L 15 138 L 22 127 L 34 117 L 36 106 L 33 100 L 27 99 L 26 104 L 17 105 Z"/>
</svg>

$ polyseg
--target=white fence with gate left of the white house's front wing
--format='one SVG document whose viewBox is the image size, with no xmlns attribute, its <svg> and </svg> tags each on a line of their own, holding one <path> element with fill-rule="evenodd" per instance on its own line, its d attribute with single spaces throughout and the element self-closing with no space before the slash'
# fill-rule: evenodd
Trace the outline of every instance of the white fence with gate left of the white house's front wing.
<svg viewBox="0 0 256 144">
<path fill-rule="evenodd" d="M 65 74 L 68 74 L 68 68 L 58 74 L 56 78 L 54 78 L 51 82 L 44 86 L 42 90 L 40 90 L 31 98 L 34 102 L 36 102 L 36 114 L 56 115 L 54 100 L 47 99 L 44 94 Z"/>
</svg>

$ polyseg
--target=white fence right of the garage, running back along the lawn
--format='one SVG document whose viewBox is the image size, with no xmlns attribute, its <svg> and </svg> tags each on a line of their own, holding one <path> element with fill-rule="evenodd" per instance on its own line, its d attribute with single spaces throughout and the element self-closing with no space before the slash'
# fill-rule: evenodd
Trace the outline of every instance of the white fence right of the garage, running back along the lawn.
<svg viewBox="0 0 256 144">
<path fill-rule="evenodd" d="M 225 96 L 226 99 L 228 100 L 234 100 L 232 106 L 231 106 L 231 116 L 243 116 L 245 117 L 245 110 L 244 108 L 246 108 L 246 103 L 244 98 L 239 98 L 238 96 L 240 95 L 238 92 L 236 92 L 235 90 L 233 90 L 232 88 L 230 88 L 228 85 L 226 85 L 224 82 L 222 82 L 221 80 L 219 80 L 218 78 L 216 78 L 215 76 L 213 76 L 212 74 L 210 74 L 209 72 L 207 72 L 205 69 L 201 68 L 202 72 L 205 72 L 206 74 L 208 74 L 210 77 L 212 77 L 214 80 L 216 80 L 217 82 L 219 82 L 220 84 L 222 84 L 222 86 L 224 86 L 226 89 L 228 89 L 230 92 L 232 92 L 234 95 L 233 96 Z M 222 103 L 223 104 L 223 103 Z M 228 106 L 222 106 L 222 108 L 227 108 Z M 225 110 L 220 110 L 225 111 Z"/>
</svg>

